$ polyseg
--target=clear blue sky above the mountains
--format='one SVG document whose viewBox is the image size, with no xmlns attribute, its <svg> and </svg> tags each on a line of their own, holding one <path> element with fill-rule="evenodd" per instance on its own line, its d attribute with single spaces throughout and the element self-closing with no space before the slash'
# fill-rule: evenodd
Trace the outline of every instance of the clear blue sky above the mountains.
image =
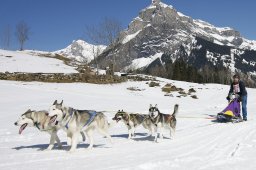
<svg viewBox="0 0 256 170">
<path fill-rule="evenodd" d="M 235 28 L 246 38 L 256 40 L 254 0 L 162 1 L 192 18 Z M 18 49 L 15 26 L 25 21 L 31 28 L 26 49 L 58 50 L 72 40 L 86 39 L 85 26 L 97 24 L 104 17 L 118 19 L 126 28 L 150 3 L 151 0 L 1 0 L 0 35 L 10 25 L 13 32 L 11 48 Z"/>
</svg>

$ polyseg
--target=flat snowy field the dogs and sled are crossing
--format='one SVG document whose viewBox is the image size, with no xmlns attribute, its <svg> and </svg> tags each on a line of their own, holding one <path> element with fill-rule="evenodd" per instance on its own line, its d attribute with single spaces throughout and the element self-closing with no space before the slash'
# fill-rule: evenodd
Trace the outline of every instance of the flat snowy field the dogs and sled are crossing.
<svg viewBox="0 0 256 170">
<path fill-rule="evenodd" d="M 193 87 L 199 99 L 167 97 L 161 87 L 150 88 L 145 82 L 94 85 L 0 81 L 0 169 L 256 169 L 255 89 L 248 89 L 248 122 L 217 124 L 209 115 L 216 115 L 227 105 L 228 86 L 160 80 L 161 86 L 172 82 L 186 90 Z M 144 90 L 134 92 L 128 87 Z M 136 137 L 128 140 L 127 129 L 119 122 L 110 129 L 113 145 L 96 134 L 94 149 L 87 150 L 85 142 L 75 153 L 68 153 L 65 133 L 60 131 L 64 149 L 43 151 L 49 135 L 29 127 L 19 135 L 14 122 L 29 108 L 48 109 L 55 99 L 77 109 L 107 111 L 109 121 L 119 109 L 147 113 L 149 104 L 158 104 L 161 112 L 171 113 L 178 103 L 176 136 L 170 140 L 165 130 L 165 138 L 154 143 L 139 127 Z"/>
</svg>

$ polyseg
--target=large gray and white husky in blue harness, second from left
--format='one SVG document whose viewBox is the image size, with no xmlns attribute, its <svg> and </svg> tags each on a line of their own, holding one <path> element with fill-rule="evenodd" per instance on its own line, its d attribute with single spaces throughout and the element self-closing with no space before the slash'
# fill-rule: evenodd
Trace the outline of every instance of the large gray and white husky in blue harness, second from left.
<svg viewBox="0 0 256 170">
<path fill-rule="evenodd" d="M 76 110 L 72 107 L 63 106 L 63 100 L 58 103 L 54 101 L 49 109 L 50 122 L 59 125 L 67 132 L 68 140 L 71 140 L 70 152 L 77 148 L 78 135 L 83 131 L 89 140 L 91 149 L 94 144 L 93 133 L 98 130 L 99 133 L 106 136 L 112 143 L 112 138 L 108 134 L 110 124 L 107 117 L 101 113 L 92 110 Z"/>
</svg>

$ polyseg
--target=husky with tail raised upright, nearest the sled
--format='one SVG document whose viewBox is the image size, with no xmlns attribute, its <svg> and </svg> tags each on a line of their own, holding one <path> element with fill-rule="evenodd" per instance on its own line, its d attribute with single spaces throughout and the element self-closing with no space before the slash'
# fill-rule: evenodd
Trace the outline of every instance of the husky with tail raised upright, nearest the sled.
<svg viewBox="0 0 256 170">
<path fill-rule="evenodd" d="M 149 115 L 151 118 L 152 123 L 157 127 L 157 130 L 159 129 L 159 136 L 162 139 L 162 129 L 168 128 L 170 129 L 170 137 L 171 139 L 174 138 L 175 130 L 176 130 L 176 115 L 178 113 L 179 105 L 176 104 L 174 106 L 173 114 L 163 114 L 159 111 L 157 105 L 153 107 L 152 105 L 149 106 Z M 157 130 L 155 131 L 155 142 L 157 142 Z"/>
</svg>

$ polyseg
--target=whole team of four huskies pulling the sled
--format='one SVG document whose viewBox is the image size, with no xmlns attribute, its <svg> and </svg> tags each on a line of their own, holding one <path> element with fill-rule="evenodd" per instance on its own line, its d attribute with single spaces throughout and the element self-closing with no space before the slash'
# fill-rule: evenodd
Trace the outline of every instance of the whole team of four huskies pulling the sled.
<svg viewBox="0 0 256 170">
<path fill-rule="evenodd" d="M 98 131 L 112 143 L 112 138 L 108 133 L 108 129 L 114 122 L 120 120 L 128 128 L 128 139 L 135 136 L 135 128 L 142 125 L 147 129 L 150 135 L 154 134 L 154 141 L 157 142 L 158 131 L 159 137 L 163 138 L 162 129 L 170 130 L 171 139 L 173 139 L 176 129 L 176 115 L 179 106 L 174 106 L 172 114 L 163 114 L 159 111 L 157 105 L 150 105 L 149 114 L 135 114 L 119 110 L 113 122 L 109 123 L 107 117 L 102 112 L 93 110 L 76 110 L 72 107 L 65 107 L 63 101 L 58 103 L 57 100 L 50 106 L 49 111 L 32 111 L 28 110 L 22 114 L 18 121 L 14 124 L 20 126 L 19 134 L 28 126 L 35 127 L 40 131 L 50 134 L 50 144 L 47 150 L 51 150 L 57 142 L 58 147 L 62 148 L 57 132 L 63 129 L 67 133 L 67 144 L 71 146 L 70 152 L 75 151 L 78 139 L 81 136 L 83 141 L 87 139 L 89 149 L 94 145 L 93 134 Z"/>
</svg>

